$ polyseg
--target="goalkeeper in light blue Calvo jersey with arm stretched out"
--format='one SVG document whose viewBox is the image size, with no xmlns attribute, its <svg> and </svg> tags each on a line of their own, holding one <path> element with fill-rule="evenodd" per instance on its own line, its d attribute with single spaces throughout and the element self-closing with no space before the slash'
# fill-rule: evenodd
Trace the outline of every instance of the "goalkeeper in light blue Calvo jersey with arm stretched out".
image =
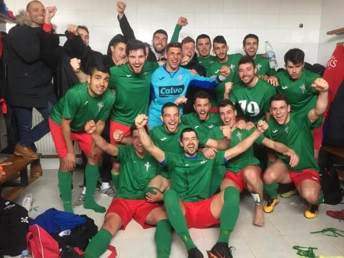
<svg viewBox="0 0 344 258">
<path fill-rule="evenodd" d="M 169 43 L 165 55 L 166 64 L 156 69 L 151 78 L 152 101 L 148 109 L 149 129 L 163 124 L 160 119 L 162 106 L 185 96 L 189 85 L 212 89 L 222 83 L 230 73 L 229 67 L 222 66 L 218 77 L 205 78 L 180 67 L 181 44 L 178 42 Z M 182 109 L 179 110 L 181 113 Z"/>
</svg>

